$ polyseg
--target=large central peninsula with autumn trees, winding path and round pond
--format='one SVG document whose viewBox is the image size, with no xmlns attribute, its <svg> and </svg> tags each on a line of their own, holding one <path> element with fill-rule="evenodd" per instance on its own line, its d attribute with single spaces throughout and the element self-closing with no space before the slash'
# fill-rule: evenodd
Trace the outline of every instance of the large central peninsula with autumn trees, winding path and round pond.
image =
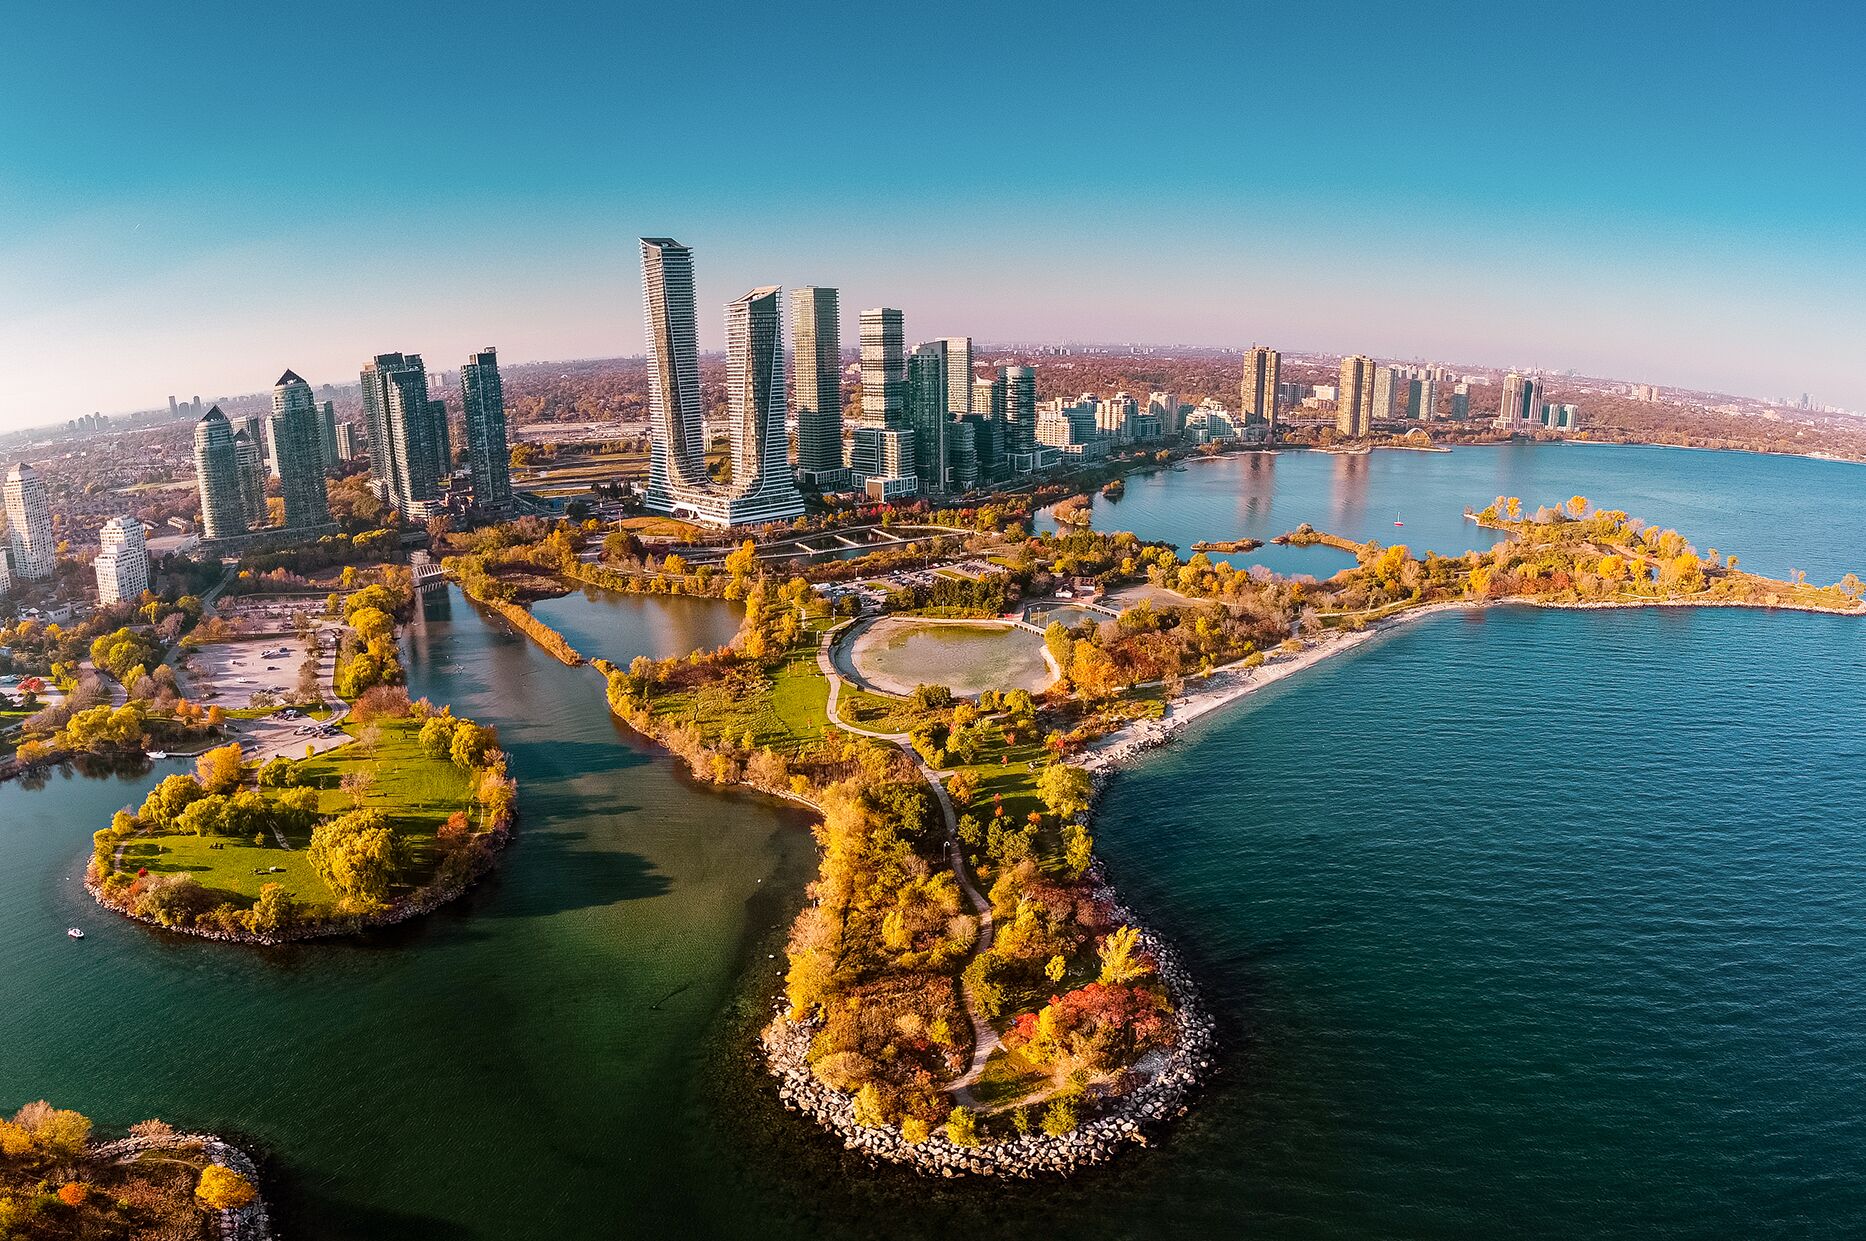
<svg viewBox="0 0 1866 1241">
<path fill-rule="evenodd" d="M 506 571 L 556 571 L 745 603 L 724 648 L 595 666 L 612 711 L 696 778 L 821 812 L 821 870 L 763 1034 L 780 1092 L 877 1159 L 940 1176 L 1034 1176 L 1144 1140 L 1211 1066 L 1192 980 L 1095 860 L 1090 810 L 1103 773 L 1187 718 L 1446 607 L 1862 614 L 1851 577 L 1808 586 L 1743 573 L 1676 530 L 1582 496 L 1530 517 L 1500 498 L 1478 517 L 1508 537 L 1463 556 L 1304 526 L 1286 541 L 1357 558 L 1316 582 L 1086 524 L 1032 537 L 1028 509 L 942 511 L 937 521 L 965 534 L 922 564 L 944 567 L 866 599 L 929 631 L 1041 640 L 1047 685 L 970 698 L 937 668 L 911 694 L 864 677 L 864 648 L 847 642 L 864 595 L 812 579 L 862 579 L 866 558 L 825 573 L 801 565 L 784 580 L 752 543 L 698 571 L 620 545 L 592 564 L 578 532 L 562 526 L 554 547 L 513 545 L 452 567 L 476 579 L 476 595 L 498 595 Z M 537 636 L 532 620 L 522 629 Z"/>
</svg>

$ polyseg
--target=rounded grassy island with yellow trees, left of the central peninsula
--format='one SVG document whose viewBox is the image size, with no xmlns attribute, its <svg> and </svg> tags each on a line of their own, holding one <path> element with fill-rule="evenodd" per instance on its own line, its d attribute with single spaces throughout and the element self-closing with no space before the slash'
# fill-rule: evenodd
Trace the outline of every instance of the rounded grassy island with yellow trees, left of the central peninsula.
<svg viewBox="0 0 1866 1241">
<path fill-rule="evenodd" d="M 97 832 L 88 883 L 134 918 L 224 939 L 332 935 L 424 913 L 485 870 L 515 784 L 494 730 L 368 690 L 349 743 L 243 765 L 209 750 Z"/>
</svg>

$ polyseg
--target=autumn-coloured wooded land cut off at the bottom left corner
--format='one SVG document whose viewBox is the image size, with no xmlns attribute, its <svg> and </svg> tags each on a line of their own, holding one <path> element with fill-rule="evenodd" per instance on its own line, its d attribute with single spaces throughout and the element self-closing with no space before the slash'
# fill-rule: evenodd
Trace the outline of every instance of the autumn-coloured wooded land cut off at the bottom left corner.
<svg viewBox="0 0 1866 1241">
<path fill-rule="evenodd" d="M 39 1101 L 0 1120 L 0 1237 L 271 1241 L 272 1222 L 239 1148 L 160 1120 L 99 1142 Z"/>
</svg>

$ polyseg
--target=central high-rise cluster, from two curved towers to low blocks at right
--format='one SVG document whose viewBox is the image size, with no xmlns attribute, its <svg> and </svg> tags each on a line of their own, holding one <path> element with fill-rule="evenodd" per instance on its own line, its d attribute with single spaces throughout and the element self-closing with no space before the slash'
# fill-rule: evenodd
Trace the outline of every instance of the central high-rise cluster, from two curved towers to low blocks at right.
<svg viewBox="0 0 1866 1241">
<path fill-rule="evenodd" d="M 1037 407 L 1028 366 L 980 377 L 968 336 L 907 345 L 903 315 L 858 315 L 860 405 L 843 425 L 842 306 L 832 287 L 791 291 L 797 463 L 786 424 L 782 289 L 752 289 L 726 306 L 730 474 L 707 465 L 692 250 L 642 239 L 649 356 L 649 476 L 644 506 L 709 526 L 802 515 L 802 489 L 856 491 L 871 500 L 946 496 L 1054 465 L 1065 453 L 1159 439 L 1177 416 L 1118 394 L 1110 401 Z"/>
</svg>

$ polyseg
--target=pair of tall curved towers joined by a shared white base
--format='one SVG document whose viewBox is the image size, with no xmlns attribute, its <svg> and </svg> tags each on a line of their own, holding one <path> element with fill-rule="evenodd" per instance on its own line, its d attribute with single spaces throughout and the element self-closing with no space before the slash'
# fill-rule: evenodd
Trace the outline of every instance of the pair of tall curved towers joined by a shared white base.
<svg viewBox="0 0 1866 1241">
<path fill-rule="evenodd" d="M 713 526 L 801 517 L 784 435 L 782 289 L 752 289 L 726 306 L 730 487 L 715 485 L 705 470 L 692 250 L 672 237 L 642 237 L 642 297 L 651 416 L 646 508 Z"/>
</svg>

